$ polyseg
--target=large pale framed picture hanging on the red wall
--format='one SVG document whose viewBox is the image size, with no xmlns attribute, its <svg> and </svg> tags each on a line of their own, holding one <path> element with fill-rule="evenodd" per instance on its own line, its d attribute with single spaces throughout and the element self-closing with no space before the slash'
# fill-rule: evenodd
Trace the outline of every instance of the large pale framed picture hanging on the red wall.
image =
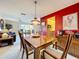
<svg viewBox="0 0 79 59">
<path fill-rule="evenodd" d="M 78 30 L 78 13 L 63 16 L 63 30 Z"/>
</svg>

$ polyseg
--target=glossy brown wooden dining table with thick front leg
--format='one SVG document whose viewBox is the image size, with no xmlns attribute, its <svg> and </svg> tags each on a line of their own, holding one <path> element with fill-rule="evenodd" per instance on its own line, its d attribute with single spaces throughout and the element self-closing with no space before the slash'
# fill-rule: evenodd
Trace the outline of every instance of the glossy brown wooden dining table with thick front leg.
<svg viewBox="0 0 79 59">
<path fill-rule="evenodd" d="M 24 39 L 34 48 L 34 59 L 41 59 L 40 50 L 52 44 L 52 39 L 44 36 L 33 38 L 32 36 L 24 36 Z"/>
</svg>

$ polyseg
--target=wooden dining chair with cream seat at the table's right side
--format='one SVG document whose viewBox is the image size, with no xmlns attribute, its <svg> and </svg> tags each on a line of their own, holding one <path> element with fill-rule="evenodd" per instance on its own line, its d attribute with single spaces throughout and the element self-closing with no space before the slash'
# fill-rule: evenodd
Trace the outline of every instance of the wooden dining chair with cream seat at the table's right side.
<svg viewBox="0 0 79 59">
<path fill-rule="evenodd" d="M 66 56 L 67 56 L 67 53 L 68 53 L 68 50 L 69 50 L 69 47 L 70 47 L 70 44 L 72 41 L 72 37 L 73 37 L 73 35 L 71 35 L 71 34 L 68 35 L 67 43 L 66 43 L 63 53 L 60 53 L 60 52 L 50 49 L 50 48 L 46 48 L 45 50 L 43 50 L 43 59 L 45 59 L 45 53 L 47 53 L 54 59 L 66 59 Z"/>
</svg>

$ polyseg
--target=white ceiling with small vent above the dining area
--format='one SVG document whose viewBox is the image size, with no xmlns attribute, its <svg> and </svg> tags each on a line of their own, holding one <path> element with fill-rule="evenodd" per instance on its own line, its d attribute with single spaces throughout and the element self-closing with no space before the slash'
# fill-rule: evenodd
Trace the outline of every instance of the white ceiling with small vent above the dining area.
<svg viewBox="0 0 79 59">
<path fill-rule="evenodd" d="M 78 2 L 79 0 L 37 0 L 36 14 L 40 18 Z M 5 19 L 30 22 L 35 15 L 34 8 L 34 0 L 0 0 L 0 16 Z"/>
</svg>

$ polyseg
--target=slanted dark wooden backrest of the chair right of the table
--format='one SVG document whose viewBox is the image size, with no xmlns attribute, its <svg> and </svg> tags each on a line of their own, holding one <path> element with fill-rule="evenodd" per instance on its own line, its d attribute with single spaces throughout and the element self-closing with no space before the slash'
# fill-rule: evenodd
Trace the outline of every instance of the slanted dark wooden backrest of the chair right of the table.
<svg viewBox="0 0 79 59">
<path fill-rule="evenodd" d="M 70 44 L 71 44 L 71 41 L 72 41 L 72 37 L 73 37 L 72 34 L 68 34 L 66 47 L 65 47 L 64 52 L 63 52 L 63 54 L 62 54 L 62 56 L 61 56 L 61 59 L 66 58 L 67 53 L 68 53 L 68 50 L 69 50 L 69 47 L 70 47 Z"/>
</svg>

